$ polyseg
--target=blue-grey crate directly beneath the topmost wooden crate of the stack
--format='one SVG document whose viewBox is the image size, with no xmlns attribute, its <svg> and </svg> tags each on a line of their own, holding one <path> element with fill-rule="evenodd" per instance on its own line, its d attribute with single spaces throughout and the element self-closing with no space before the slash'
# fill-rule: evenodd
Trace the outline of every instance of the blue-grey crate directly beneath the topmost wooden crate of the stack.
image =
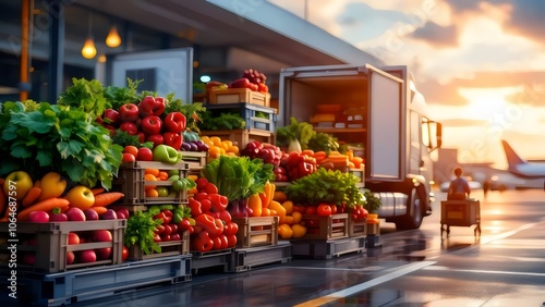
<svg viewBox="0 0 545 307">
<path fill-rule="evenodd" d="M 220 115 L 221 113 L 235 113 L 239 114 L 246 123 L 246 130 L 265 130 L 270 133 L 276 131 L 276 110 L 272 108 L 261 107 L 256 105 L 240 102 L 240 103 L 225 103 L 225 105 L 206 105 L 205 106 L 213 115 Z M 261 113 L 266 118 L 257 116 Z"/>
</svg>

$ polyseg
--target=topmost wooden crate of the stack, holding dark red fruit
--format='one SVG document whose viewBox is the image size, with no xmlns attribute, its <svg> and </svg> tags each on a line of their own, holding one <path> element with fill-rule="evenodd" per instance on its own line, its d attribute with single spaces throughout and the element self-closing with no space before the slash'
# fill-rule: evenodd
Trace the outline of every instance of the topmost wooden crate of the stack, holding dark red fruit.
<svg viewBox="0 0 545 307">
<path fill-rule="evenodd" d="M 228 88 L 228 89 L 213 89 L 209 93 L 209 101 L 207 103 L 235 103 L 246 102 L 263 107 L 270 106 L 270 94 L 254 91 L 249 88 Z"/>
</svg>

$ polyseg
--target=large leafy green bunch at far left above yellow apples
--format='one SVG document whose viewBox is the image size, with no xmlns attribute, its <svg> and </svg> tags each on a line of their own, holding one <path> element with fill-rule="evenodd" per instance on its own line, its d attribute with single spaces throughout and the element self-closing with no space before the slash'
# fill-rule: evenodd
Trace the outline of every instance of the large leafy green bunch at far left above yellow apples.
<svg viewBox="0 0 545 307">
<path fill-rule="evenodd" d="M 68 106 L 40 102 L 26 112 L 22 102 L 5 102 L 0 114 L 0 175 L 24 170 L 34 176 L 49 171 L 74 183 L 109 189 L 121 164 L 123 148 L 92 114 Z"/>
</svg>

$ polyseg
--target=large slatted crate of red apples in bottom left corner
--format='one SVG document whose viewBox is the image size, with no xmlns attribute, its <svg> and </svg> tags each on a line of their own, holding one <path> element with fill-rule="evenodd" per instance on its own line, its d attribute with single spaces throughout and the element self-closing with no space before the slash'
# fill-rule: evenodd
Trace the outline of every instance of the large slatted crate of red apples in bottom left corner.
<svg viewBox="0 0 545 307">
<path fill-rule="evenodd" d="M 124 219 L 51 223 L 17 222 L 16 240 L 19 242 L 16 243 L 16 254 L 14 254 L 16 255 L 17 270 L 55 273 L 78 268 L 121 263 L 125 228 L 126 220 Z M 7 234 L 8 229 L 9 223 L 0 223 L 1 233 Z M 81 238 L 84 238 L 90 236 L 96 230 L 110 231 L 112 241 L 68 244 L 69 233 L 76 233 Z M 0 244 L 0 254 L 10 253 L 8 246 L 11 244 L 10 240 L 7 244 Z M 85 263 L 77 262 L 76 258 L 73 263 L 66 263 L 66 253 L 97 248 L 111 248 L 110 257 L 106 260 Z M 35 255 L 34 265 L 23 262 L 26 254 Z M 8 262 L 1 262 L 1 267 L 8 267 Z"/>
</svg>

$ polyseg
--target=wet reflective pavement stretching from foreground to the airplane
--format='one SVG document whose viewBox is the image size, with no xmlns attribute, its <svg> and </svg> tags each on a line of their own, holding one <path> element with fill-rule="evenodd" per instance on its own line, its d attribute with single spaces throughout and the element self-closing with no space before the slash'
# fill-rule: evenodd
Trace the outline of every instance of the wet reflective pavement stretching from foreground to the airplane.
<svg viewBox="0 0 545 307">
<path fill-rule="evenodd" d="M 421 229 L 398 232 L 383 223 L 382 246 L 363 253 L 239 273 L 199 271 L 192 281 L 72 306 L 542 306 L 545 192 L 475 197 L 480 237 L 470 226 L 441 238 L 436 201 Z"/>
</svg>

